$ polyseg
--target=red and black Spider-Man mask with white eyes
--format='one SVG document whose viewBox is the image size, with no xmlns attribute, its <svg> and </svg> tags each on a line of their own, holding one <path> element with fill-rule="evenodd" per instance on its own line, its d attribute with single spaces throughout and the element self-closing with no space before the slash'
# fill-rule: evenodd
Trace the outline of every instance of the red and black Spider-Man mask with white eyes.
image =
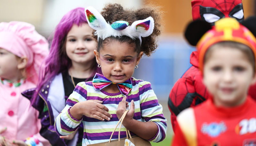
<svg viewBox="0 0 256 146">
<path fill-rule="evenodd" d="M 192 0 L 193 20 L 203 20 L 214 25 L 214 22 L 231 17 L 238 22 L 244 21 L 242 0 Z"/>
</svg>

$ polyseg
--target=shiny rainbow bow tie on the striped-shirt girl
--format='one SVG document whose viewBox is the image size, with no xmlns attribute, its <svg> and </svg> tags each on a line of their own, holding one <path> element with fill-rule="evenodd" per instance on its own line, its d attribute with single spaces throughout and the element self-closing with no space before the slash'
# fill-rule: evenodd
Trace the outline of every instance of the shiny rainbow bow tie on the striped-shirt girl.
<svg viewBox="0 0 256 146">
<path fill-rule="evenodd" d="M 99 73 L 96 73 L 94 78 L 92 79 L 92 85 L 96 91 L 101 90 L 112 83 L 112 81 L 108 80 L 106 77 L 104 77 L 104 75 L 101 75 Z M 120 90 L 121 94 L 123 94 L 124 96 L 127 96 L 129 92 L 132 90 L 131 78 L 123 83 L 117 83 L 116 85 Z"/>
</svg>

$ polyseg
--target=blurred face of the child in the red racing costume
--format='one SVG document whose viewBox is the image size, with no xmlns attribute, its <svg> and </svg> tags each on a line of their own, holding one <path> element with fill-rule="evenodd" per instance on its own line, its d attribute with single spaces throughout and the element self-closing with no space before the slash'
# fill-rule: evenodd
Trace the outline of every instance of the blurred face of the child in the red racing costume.
<svg viewBox="0 0 256 146">
<path fill-rule="evenodd" d="M 245 101 L 255 82 L 252 64 L 239 49 L 214 47 L 204 65 L 204 83 L 216 106 L 232 107 Z"/>
</svg>

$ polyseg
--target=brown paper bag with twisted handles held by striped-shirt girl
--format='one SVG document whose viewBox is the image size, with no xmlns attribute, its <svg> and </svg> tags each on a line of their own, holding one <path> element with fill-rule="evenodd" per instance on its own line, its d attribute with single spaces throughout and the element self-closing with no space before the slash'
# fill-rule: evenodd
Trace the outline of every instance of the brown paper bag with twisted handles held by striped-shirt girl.
<svg viewBox="0 0 256 146">
<path fill-rule="evenodd" d="M 115 128 L 113 130 L 112 134 L 111 134 L 109 142 L 89 144 L 88 146 L 126 146 L 125 145 L 125 139 L 128 139 L 129 141 L 131 141 L 135 146 L 152 146 L 149 141 L 147 141 L 143 138 L 140 138 L 139 136 L 131 136 L 130 131 L 127 130 L 127 129 L 126 129 L 126 136 L 127 137 L 120 138 L 121 125 L 122 125 L 123 119 L 124 119 L 125 115 L 127 114 L 127 112 L 128 112 L 128 110 L 124 112 L 124 114 L 122 115 L 122 117 L 120 118 L 119 122 L 116 125 L 116 128 L 117 128 L 118 124 L 121 122 L 120 123 L 120 128 L 119 128 L 119 136 L 118 136 L 119 139 L 111 141 L 112 135 L 113 135 L 114 131 L 116 130 L 116 128 Z M 130 138 L 128 138 L 128 134 L 129 134 Z"/>
</svg>

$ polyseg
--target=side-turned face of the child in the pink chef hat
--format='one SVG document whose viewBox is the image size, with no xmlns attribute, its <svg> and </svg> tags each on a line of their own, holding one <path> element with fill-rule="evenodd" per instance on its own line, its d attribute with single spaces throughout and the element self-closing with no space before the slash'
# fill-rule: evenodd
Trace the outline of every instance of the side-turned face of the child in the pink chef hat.
<svg viewBox="0 0 256 146">
<path fill-rule="evenodd" d="M 0 77 L 12 80 L 18 76 L 18 60 L 11 52 L 0 48 Z"/>
</svg>

